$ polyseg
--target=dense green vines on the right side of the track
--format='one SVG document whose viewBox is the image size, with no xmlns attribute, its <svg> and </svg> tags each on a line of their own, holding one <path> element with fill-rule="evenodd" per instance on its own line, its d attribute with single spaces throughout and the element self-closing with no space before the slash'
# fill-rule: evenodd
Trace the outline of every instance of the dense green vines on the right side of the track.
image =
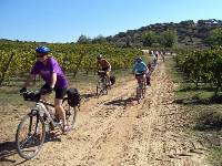
<svg viewBox="0 0 222 166">
<path fill-rule="evenodd" d="M 222 87 L 222 48 L 211 50 L 180 51 L 174 58 L 176 65 L 189 81 L 215 86 L 215 94 Z"/>
</svg>

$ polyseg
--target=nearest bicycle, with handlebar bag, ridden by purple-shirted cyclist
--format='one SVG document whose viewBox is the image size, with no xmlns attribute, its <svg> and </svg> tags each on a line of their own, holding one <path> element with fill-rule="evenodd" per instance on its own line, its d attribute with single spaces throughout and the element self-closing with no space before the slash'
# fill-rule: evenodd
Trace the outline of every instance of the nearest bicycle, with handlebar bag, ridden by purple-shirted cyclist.
<svg viewBox="0 0 222 166">
<path fill-rule="evenodd" d="M 24 159 L 33 158 L 41 149 L 46 139 L 46 125 L 58 127 L 63 132 L 62 123 L 49 110 L 53 104 L 41 100 L 40 92 L 27 91 L 21 93 L 24 101 L 36 102 L 30 112 L 21 120 L 16 133 L 16 146 L 19 155 Z M 77 108 L 68 104 L 68 97 L 64 97 L 62 105 L 65 110 L 65 120 L 74 127 Z M 48 107 L 49 106 L 49 107 Z"/>
</svg>

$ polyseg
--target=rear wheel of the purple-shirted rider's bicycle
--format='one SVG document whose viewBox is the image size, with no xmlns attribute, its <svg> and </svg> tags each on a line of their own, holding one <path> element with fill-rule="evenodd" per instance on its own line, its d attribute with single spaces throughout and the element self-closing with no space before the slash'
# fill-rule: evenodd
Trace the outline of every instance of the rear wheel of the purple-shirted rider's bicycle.
<svg viewBox="0 0 222 166">
<path fill-rule="evenodd" d="M 64 97 L 62 101 L 62 106 L 65 111 L 65 120 L 68 125 L 70 125 L 72 128 L 74 127 L 75 117 L 77 117 L 77 106 L 72 107 L 68 103 L 68 97 Z"/>
</svg>

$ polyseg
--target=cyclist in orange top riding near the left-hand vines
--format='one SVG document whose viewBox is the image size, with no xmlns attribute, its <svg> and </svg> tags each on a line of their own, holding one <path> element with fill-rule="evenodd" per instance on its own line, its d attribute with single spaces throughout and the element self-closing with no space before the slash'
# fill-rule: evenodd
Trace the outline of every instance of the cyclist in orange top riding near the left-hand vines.
<svg viewBox="0 0 222 166">
<path fill-rule="evenodd" d="M 98 69 L 101 68 L 102 71 L 105 72 L 105 76 L 107 76 L 107 79 L 108 79 L 108 83 L 109 83 L 109 85 L 111 85 L 111 82 L 110 82 L 111 64 L 108 62 L 108 60 L 105 60 L 105 59 L 103 58 L 102 54 L 99 54 L 99 55 L 97 56 L 97 59 L 98 59 L 98 62 L 97 62 Z"/>
</svg>

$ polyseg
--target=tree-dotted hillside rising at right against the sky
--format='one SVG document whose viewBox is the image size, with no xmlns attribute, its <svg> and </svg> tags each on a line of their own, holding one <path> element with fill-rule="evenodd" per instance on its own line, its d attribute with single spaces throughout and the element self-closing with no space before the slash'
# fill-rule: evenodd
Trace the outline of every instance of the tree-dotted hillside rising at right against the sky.
<svg viewBox="0 0 222 166">
<path fill-rule="evenodd" d="M 122 46 L 142 46 L 142 35 L 148 31 L 153 31 L 157 34 L 165 30 L 175 30 L 178 34 L 179 48 L 206 48 L 206 39 L 211 30 L 221 28 L 222 21 L 210 19 L 181 21 L 179 23 L 155 23 L 147 27 L 141 27 L 137 30 L 128 30 L 127 32 L 120 32 L 113 37 L 108 37 L 107 40 L 114 42 Z"/>
</svg>

